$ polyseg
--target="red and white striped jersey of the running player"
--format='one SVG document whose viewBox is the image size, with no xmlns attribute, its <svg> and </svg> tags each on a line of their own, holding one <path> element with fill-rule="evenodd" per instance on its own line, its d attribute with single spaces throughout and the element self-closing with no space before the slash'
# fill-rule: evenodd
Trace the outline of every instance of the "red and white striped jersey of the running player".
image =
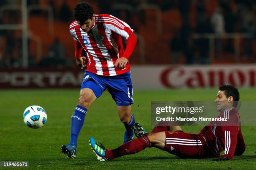
<svg viewBox="0 0 256 170">
<path fill-rule="evenodd" d="M 125 22 L 108 14 L 94 15 L 94 26 L 84 32 L 77 21 L 69 26 L 73 38 L 87 52 L 87 70 L 97 75 L 113 76 L 130 71 L 127 63 L 124 69 L 114 67 L 116 60 L 123 55 L 121 37 L 127 40 L 133 29 Z"/>
</svg>

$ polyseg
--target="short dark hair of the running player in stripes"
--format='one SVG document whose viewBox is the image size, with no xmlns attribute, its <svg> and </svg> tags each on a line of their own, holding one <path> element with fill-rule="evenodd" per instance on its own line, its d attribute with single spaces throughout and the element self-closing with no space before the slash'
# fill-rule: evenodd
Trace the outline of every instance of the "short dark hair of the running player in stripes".
<svg viewBox="0 0 256 170">
<path fill-rule="evenodd" d="M 81 2 L 74 7 L 74 18 L 77 21 L 92 19 L 93 7 L 87 2 Z"/>
</svg>

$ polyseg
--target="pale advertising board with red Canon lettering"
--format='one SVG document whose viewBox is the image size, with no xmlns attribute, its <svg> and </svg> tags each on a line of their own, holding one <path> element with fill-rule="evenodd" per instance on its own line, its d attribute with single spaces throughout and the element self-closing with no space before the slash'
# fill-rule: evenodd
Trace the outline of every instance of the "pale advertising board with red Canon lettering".
<svg viewBox="0 0 256 170">
<path fill-rule="evenodd" d="M 152 65 L 131 71 L 133 87 L 139 89 L 256 86 L 256 65 Z"/>
</svg>

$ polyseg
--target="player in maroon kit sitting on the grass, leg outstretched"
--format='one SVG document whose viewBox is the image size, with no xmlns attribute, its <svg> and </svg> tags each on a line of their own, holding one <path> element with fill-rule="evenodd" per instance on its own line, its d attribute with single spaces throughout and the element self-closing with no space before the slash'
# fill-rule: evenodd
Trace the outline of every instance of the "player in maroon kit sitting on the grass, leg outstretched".
<svg viewBox="0 0 256 170">
<path fill-rule="evenodd" d="M 156 126 L 151 133 L 143 135 L 143 128 L 136 124 L 133 130 L 138 139 L 116 149 L 105 150 L 93 138 L 89 139 L 89 143 L 100 161 L 138 153 L 148 147 L 159 148 L 181 158 L 218 157 L 217 160 L 231 160 L 234 155 L 242 155 L 246 148 L 239 113 L 236 110 L 238 100 L 239 92 L 236 87 L 220 86 L 215 100 L 220 112 L 218 117 L 227 117 L 228 120 L 210 122 L 198 134 L 185 133 L 179 126 Z"/>
</svg>

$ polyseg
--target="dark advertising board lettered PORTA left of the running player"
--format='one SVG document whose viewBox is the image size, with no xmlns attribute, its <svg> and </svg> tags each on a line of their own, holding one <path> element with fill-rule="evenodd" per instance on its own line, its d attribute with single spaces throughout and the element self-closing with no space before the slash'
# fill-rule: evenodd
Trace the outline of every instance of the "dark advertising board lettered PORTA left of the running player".
<svg viewBox="0 0 256 170">
<path fill-rule="evenodd" d="M 77 69 L 2 69 L 0 88 L 79 88 L 83 76 Z"/>
</svg>

